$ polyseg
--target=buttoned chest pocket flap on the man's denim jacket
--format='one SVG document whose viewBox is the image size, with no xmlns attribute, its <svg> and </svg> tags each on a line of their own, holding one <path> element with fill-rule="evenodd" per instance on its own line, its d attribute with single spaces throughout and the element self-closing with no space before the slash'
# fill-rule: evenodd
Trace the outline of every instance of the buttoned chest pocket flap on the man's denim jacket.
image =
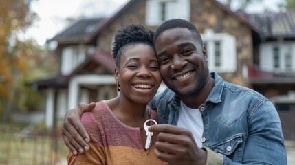
<svg viewBox="0 0 295 165">
<path fill-rule="evenodd" d="M 239 135 L 239 136 L 233 137 L 229 140 L 225 140 L 223 142 L 220 142 L 216 146 L 213 146 L 212 150 L 228 156 L 234 152 L 239 153 L 239 151 L 237 151 L 237 150 L 239 150 L 238 148 L 241 147 L 242 143 L 243 143 L 243 137 L 242 137 L 242 135 Z M 238 155 L 241 155 L 241 153 Z M 234 156 L 234 155 L 232 155 L 232 156 Z"/>
</svg>

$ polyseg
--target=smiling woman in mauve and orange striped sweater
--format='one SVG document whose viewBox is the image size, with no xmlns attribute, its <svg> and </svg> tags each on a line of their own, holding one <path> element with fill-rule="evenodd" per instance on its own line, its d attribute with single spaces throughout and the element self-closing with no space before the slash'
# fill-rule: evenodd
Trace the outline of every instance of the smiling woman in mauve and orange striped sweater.
<svg viewBox="0 0 295 165">
<path fill-rule="evenodd" d="M 142 129 L 146 120 L 157 122 L 148 102 L 161 83 L 159 64 L 153 50 L 153 32 L 142 25 L 118 31 L 113 42 L 115 79 L 119 96 L 96 103 L 81 122 L 89 133 L 90 151 L 69 153 L 69 164 L 166 164 L 154 155 L 157 133 L 147 141 Z M 66 132 L 67 134 L 67 132 Z"/>
</svg>

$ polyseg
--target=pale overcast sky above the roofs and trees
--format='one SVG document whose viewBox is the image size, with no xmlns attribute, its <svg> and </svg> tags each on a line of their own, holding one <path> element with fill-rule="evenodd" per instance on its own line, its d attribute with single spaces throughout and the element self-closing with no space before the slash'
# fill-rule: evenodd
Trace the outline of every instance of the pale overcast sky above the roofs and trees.
<svg viewBox="0 0 295 165">
<path fill-rule="evenodd" d="M 32 25 L 25 38 L 33 38 L 39 45 L 45 45 L 47 39 L 67 27 L 65 19 L 81 17 L 111 17 L 129 0 L 34 0 L 31 9 L 39 15 L 39 20 Z M 226 0 L 219 0 L 226 1 Z M 284 0 L 262 0 L 252 3 L 246 12 L 263 12 L 265 8 L 278 11 L 278 3 Z M 254 1 L 255 2 L 255 1 Z"/>
</svg>

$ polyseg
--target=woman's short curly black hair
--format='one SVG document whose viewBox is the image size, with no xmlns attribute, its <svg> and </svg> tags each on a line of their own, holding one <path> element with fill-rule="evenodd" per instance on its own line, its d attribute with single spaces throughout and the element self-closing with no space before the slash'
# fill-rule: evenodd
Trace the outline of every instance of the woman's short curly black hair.
<svg viewBox="0 0 295 165">
<path fill-rule="evenodd" d="M 153 34 L 153 31 L 137 24 L 131 24 L 122 30 L 118 30 L 112 47 L 112 55 L 116 60 L 116 66 L 119 67 L 121 55 L 127 46 L 142 43 L 153 47 Z"/>
</svg>

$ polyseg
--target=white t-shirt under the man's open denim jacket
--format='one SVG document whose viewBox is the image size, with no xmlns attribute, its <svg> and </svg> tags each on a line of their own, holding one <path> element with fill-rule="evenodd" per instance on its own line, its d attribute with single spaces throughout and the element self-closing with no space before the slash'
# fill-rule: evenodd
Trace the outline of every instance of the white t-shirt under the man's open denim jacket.
<svg viewBox="0 0 295 165">
<path fill-rule="evenodd" d="M 197 146 L 203 146 L 201 137 L 203 135 L 204 125 L 199 109 L 190 109 L 183 102 L 180 102 L 177 126 L 190 130 Z"/>
</svg>

